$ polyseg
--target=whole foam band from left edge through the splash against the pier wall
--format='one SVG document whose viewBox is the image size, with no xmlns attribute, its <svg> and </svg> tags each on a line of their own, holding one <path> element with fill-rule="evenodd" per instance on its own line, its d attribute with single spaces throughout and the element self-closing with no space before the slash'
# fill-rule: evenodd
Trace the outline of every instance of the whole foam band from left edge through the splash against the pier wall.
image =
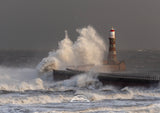
<svg viewBox="0 0 160 113">
<path fill-rule="evenodd" d="M 49 77 L 50 80 L 47 79 Z M 76 88 L 94 89 L 101 86 L 96 75 L 83 73 L 71 79 L 54 82 L 52 76 L 38 76 L 37 71 L 31 68 L 0 67 L 0 90 L 54 90 L 65 91 Z"/>
</svg>

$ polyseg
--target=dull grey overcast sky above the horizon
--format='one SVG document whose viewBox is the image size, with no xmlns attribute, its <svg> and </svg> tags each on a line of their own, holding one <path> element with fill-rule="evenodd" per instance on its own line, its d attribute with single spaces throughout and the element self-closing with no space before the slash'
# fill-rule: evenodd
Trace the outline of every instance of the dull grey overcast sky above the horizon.
<svg viewBox="0 0 160 113">
<path fill-rule="evenodd" d="M 68 30 L 92 25 L 119 49 L 160 49 L 160 0 L 1 0 L 0 49 L 55 49 Z"/>
</svg>

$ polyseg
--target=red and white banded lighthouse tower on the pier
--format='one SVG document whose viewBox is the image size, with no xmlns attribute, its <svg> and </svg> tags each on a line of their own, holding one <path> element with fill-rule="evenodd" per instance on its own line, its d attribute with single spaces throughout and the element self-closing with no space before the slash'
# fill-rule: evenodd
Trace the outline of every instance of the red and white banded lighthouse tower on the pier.
<svg viewBox="0 0 160 113">
<path fill-rule="evenodd" d="M 110 37 L 109 37 L 109 54 L 108 54 L 108 64 L 118 64 L 119 61 L 117 60 L 116 54 L 116 36 L 115 30 L 110 30 Z"/>
</svg>

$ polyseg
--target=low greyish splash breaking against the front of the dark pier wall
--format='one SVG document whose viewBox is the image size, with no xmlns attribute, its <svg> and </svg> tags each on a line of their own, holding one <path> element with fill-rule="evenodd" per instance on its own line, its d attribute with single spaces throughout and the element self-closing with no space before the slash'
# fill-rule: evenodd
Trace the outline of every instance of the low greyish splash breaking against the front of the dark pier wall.
<svg viewBox="0 0 160 113">
<path fill-rule="evenodd" d="M 77 90 L 81 88 L 98 89 L 102 83 L 97 79 L 97 74 L 92 72 L 73 76 L 71 79 L 54 82 L 50 88 L 56 91 Z"/>
</svg>

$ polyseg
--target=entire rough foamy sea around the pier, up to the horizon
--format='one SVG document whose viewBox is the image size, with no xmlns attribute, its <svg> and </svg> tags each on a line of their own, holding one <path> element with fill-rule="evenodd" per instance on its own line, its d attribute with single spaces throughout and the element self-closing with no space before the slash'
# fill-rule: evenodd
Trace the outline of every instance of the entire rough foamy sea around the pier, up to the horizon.
<svg viewBox="0 0 160 113">
<path fill-rule="evenodd" d="M 54 82 L 36 66 L 48 51 L 0 51 L 0 113 L 158 113 L 160 86 L 118 87 L 92 76 Z M 129 72 L 160 76 L 160 51 L 118 51 Z M 89 77 L 90 76 L 90 77 Z"/>
</svg>

